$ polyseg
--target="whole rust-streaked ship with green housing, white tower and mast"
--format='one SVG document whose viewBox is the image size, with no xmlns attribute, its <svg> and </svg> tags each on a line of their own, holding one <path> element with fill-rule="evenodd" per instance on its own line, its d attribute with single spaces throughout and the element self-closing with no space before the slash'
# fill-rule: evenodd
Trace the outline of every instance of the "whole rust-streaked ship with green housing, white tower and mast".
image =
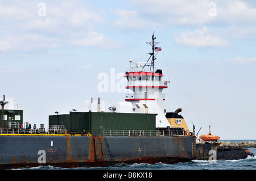
<svg viewBox="0 0 256 181">
<path fill-rule="evenodd" d="M 0 169 L 35 166 L 96 167 L 117 163 L 177 163 L 196 158 L 195 129 L 189 131 L 177 112 L 164 109 L 163 90 L 170 81 L 156 69 L 162 50 L 152 34 L 146 62 L 130 61 L 124 73 L 133 94 L 105 108 L 100 98 L 86 111 L 49 115 L 49 128 L 25 122 L 23 112 L 4 109 L 1 100 Z M 10 106 L 10 105 L 9 105 Z M 108 110 L 108 111 L 106 111 Z M 186 125 L 184 127 L 183 125 Z"/>
</svg>

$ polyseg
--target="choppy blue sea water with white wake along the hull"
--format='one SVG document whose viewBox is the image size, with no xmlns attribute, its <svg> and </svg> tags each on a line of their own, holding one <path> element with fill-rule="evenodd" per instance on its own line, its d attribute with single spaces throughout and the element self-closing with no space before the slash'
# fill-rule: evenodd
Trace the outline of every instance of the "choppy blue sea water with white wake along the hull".
<svg viewBox="0 0 256 181">
<path fill-rule="evenodd" d="M 20 170 L 256 170 L 256 148 L 250 148 L 249 150 L 254 153 L 254 157 L 228 161 L 193 160 L 171 165 L 164 163 L 156 163 L 154 165 L 147 163 L 134 163 L 131 165 L 120 163 L 110 167 L 76 167 L 71 169 L 39 166 Z"/>
</svg>

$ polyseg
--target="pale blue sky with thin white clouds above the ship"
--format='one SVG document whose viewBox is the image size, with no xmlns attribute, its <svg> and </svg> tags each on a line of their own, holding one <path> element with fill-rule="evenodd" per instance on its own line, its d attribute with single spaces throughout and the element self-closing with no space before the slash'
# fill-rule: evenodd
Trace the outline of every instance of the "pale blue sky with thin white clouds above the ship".
<svg viewBox="0 0 256 181">
<path fill-rule="evenodd" d="M 0 1 L 0 99 L 23 121 L 83 111 L 85 101 L 124 101 L 120 75 L 146 60 L 155 32 L 156 66 L 170 81 L 164 106 L 203 134 L 256 140 L 256 2 Z M 108 90 L 100 91 L 101 75 Z M 115 86 L 114 88 L 112 86 Z"/>
</svg>

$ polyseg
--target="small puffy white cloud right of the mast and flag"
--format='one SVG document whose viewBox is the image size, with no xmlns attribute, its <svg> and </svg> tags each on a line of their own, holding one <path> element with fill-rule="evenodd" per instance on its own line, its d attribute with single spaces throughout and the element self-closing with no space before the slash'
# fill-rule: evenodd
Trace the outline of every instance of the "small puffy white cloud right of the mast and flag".
<svg viewBox="0 0 256 181">
<path fill-rule="evenodd" d="M 174 40 L 177 44 L 187 47 L 207 48 L 207 47 L 228 47 L 229 43 L 222 40 L 221 37 L 214 35 L 208 28 L 203 27 L 195 31 L 179 33 L 175 35 Z"/>
</svg>

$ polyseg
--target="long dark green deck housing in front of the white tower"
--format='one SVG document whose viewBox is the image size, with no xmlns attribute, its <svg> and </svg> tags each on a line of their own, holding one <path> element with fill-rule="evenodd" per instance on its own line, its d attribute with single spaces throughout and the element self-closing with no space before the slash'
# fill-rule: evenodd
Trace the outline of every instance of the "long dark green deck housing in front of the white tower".
<svg viewBox="0 0 256 181">
<path fill-rule="evenodd" d="M 118 112 L 69 112 L 50 115 L 49 125 L 64 125 L 68 132 L 103 135 L 105 130 L 155 130 L 156 114 Z"/>
</svg>

